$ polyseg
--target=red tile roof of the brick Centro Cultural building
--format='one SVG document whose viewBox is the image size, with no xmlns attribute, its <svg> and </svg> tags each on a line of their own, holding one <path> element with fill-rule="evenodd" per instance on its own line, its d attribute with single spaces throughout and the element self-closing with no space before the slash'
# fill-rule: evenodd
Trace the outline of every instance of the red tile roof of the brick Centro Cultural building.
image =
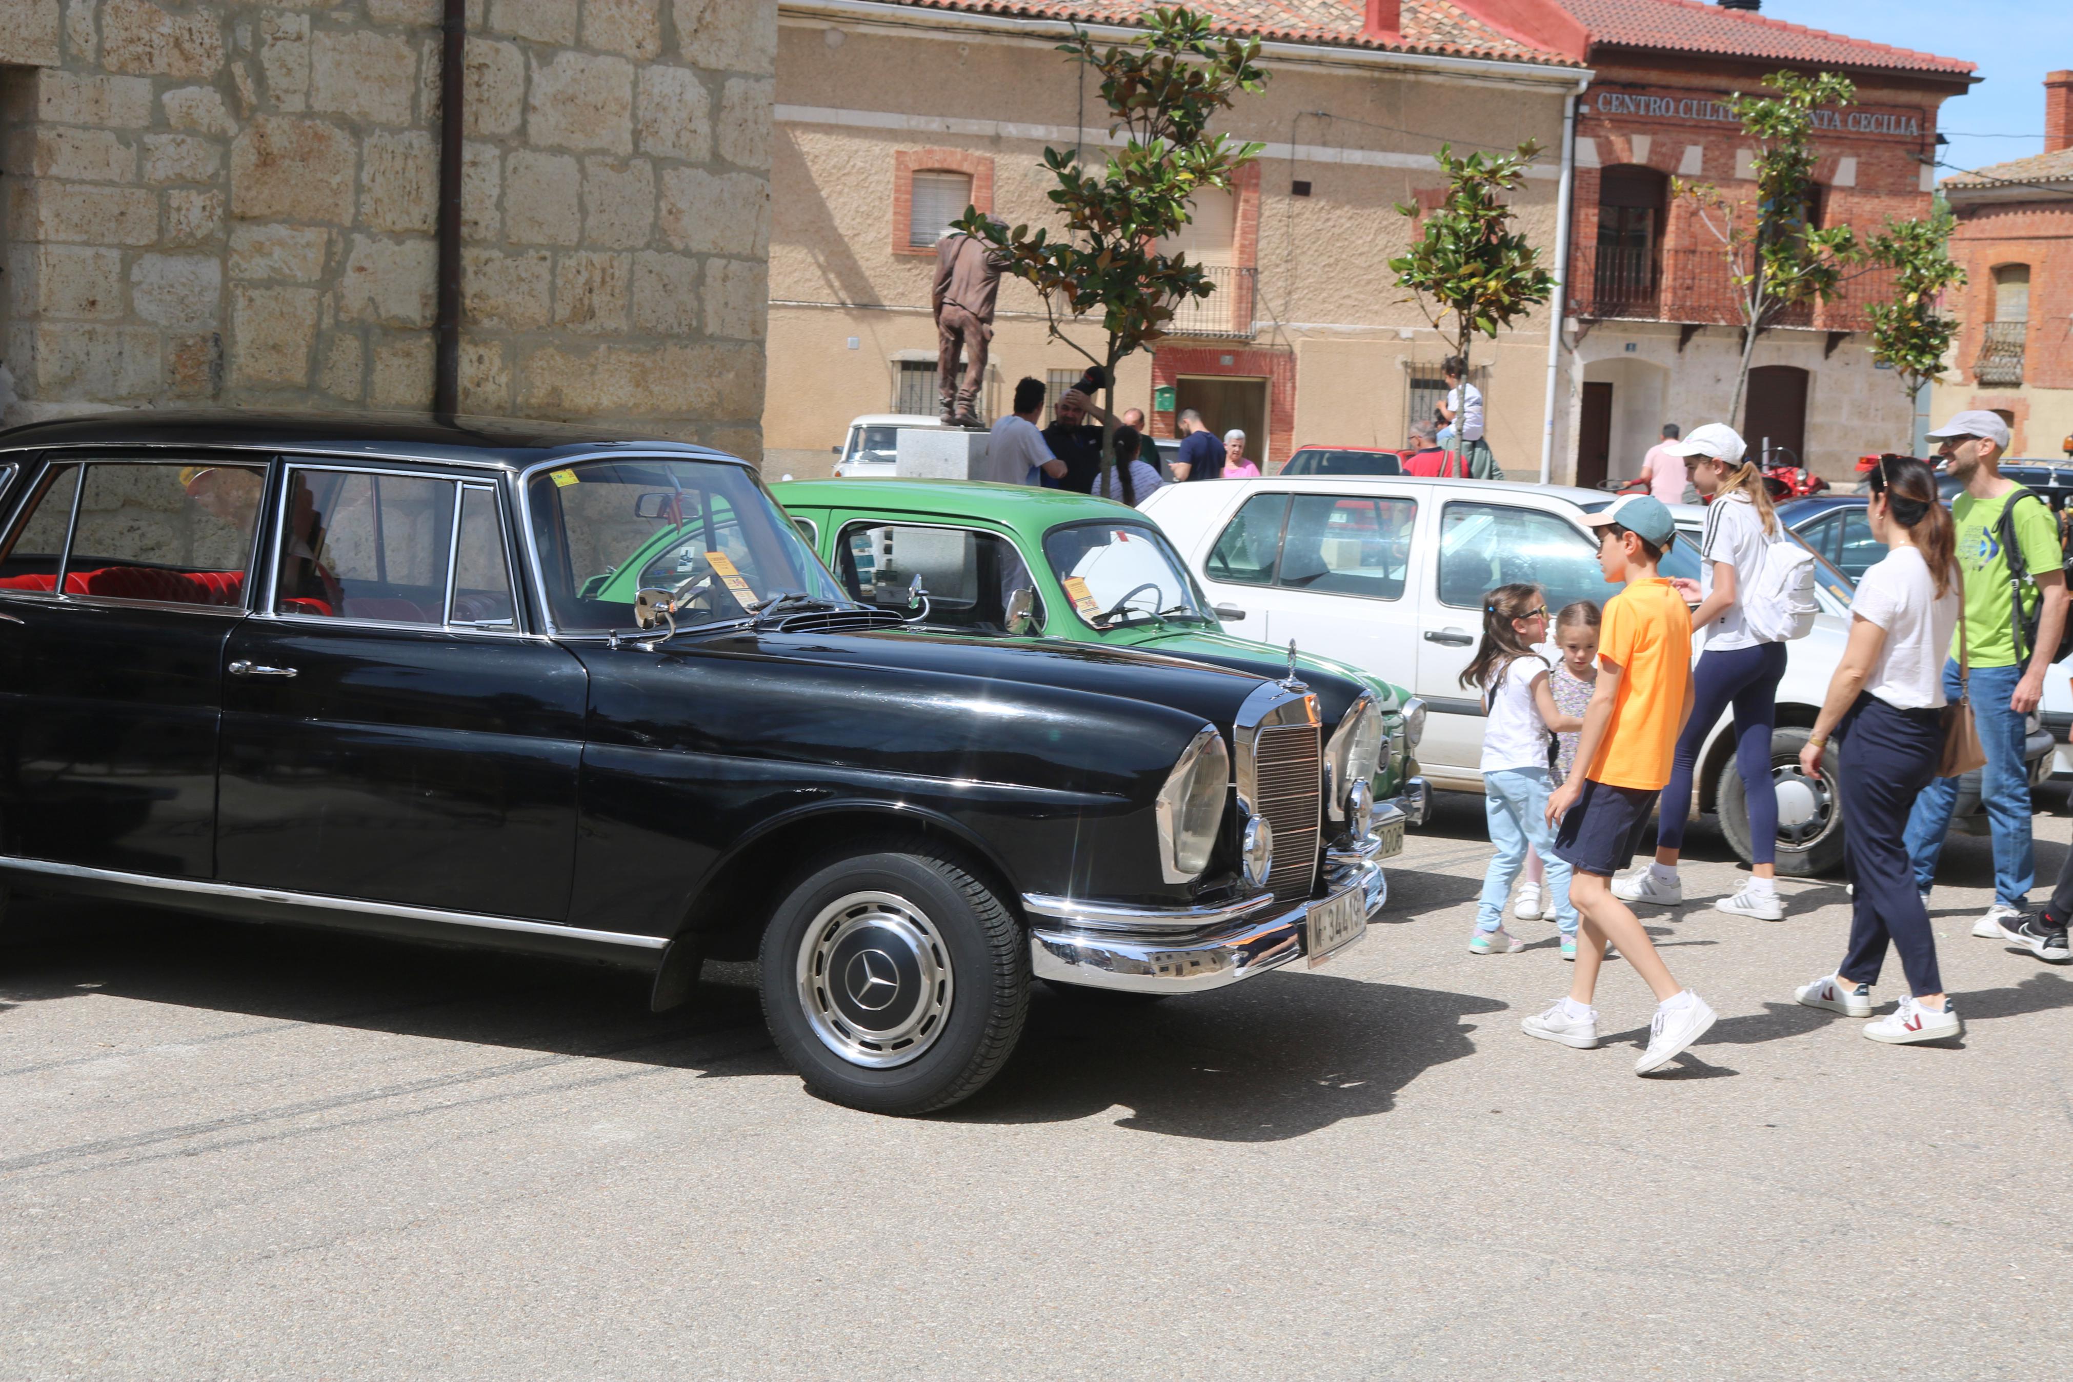
<svg viewBox="0 0 2073 1382">
<path fill-rule="evenodd" d="M 1833 62 L 1853 68 L 1895 68 L 1971 77 L 1976 62 L 1938 58 L 1911 48 L 1764 19 L 1750 10 L 1723 10 L 1698 0 L 1557 0 L 1590 31 L 1592 46 L 1656 48 L 1727 58 L 1779 62 Z M 1957 15 L 1957 10 L 1953 10 Z"/>
</svg>

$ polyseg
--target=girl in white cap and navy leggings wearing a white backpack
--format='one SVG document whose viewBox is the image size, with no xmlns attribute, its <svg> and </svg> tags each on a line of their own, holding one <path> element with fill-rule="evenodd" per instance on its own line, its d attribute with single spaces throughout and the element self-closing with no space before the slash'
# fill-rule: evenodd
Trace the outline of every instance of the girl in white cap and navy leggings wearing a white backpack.
<svg viewBox="0 0 2073 1382">
<path fill-rule="evenodd" d="M 1785 675 L 1785 644 L 1764 642 L 1741 617 L 1741 595 L 1762 568 L 1764 547 L 1783 541 L 1764 474 L 1743 460 L 1743 441 L 1725 423 L 1706 423 L 1683 441 L 1667 441 L 1692 462 L 1692 485 L 1712 503 L 1700 539 L 1700 603 L 1692 611 L 1694 644 L 1704 653 L 1692 667 L 1692 719 L 1677 736 L 1671 781 L 1663 787 L 1656 825 L 1656 862 L 1613 881 L 1623 901 L 1675 908 L 1683 903 L 1677 856 L 1692 816 L 1692 771 L 1706 733 L 1721 711 L 1735 707 L 1735 773 L 1750 804 L 1750 881 L 1733 897 L 1712 903 L 1721 912 L 1779 922 L 1777 847 L 1779 794 L 1770 781 L 1770 729 L 1779 719 L 1779 678 Z"/>
</svg>

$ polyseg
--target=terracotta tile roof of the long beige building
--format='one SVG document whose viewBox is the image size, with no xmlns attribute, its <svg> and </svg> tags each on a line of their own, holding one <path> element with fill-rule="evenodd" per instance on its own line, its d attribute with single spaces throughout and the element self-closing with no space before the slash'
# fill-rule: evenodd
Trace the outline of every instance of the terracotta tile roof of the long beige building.
<svg viewBox="0 0 2073 1382">
<path fill-rule="evenodd" d="M 1169 0 L 1171 2 L 1171 0 Z M 925 10 L 1059 19 L 1090 25 L 1134 25 L 1151 0 L 891 0 Z M 1331 44 L 1383 52 L 1497 58 L 1553 66 L 1582 66 L 1567 54 L 1534 48 L 1451 0 L 1401 0 L 1401 41 L 1362 37 L 1362 0 L 1190 0 L 1225 33 L 1258 33 L 1283 44 Z"/>
</svg>

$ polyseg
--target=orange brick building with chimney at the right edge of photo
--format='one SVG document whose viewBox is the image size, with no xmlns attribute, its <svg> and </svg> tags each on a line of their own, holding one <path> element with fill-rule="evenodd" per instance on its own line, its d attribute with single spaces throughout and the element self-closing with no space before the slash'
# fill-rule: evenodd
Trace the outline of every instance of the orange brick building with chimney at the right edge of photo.
<svg viewBox="0 0 2073 1382">
<path fill-rule="evenodd" d="M 2073 73 L 2044 79 L 2044 153 L 1942 182 L 1965 265 L 1936 414 L 1988 408 L 2011 456 L 2073 456 Z"/>
</svg>

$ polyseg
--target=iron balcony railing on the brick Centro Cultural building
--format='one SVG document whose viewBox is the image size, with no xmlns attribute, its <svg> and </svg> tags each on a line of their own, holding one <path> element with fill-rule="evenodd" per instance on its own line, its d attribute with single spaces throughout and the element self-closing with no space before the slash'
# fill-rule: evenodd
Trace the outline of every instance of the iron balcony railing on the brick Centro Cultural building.
<svg viewBox="0 0 2073 1382">
<path fill-rule="evenodd" d="M 1847 269 L 1826 303 L 1797 303 L 1766 325 L 1816 332 L 1872 329 L 1870 305 L 1886 298 L 1889 269 Z M 1586 319 L 1741 325 L 1743 288 L 1714 249 L 1584 244 L 1569 269 L 1569 311 Z"/>
</svg>

